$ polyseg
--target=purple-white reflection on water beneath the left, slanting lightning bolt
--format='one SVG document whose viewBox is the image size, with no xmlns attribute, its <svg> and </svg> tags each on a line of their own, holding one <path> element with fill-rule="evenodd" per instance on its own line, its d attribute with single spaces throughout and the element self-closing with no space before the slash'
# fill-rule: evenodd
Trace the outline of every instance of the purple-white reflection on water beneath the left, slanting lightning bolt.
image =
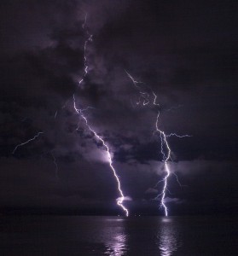
<svg viewBox="0 0 238 256">
<path fill-rule="evenodd" d="M 105 232 L 107 232 L 107 241 L 105 242 L 107 251 L 105 252 L 105 254 L 110 256 L 126 255 L 127 236 L 125 235 L 124 219 L 108 219 L 107 221 L 110 221 L 111 224 L 104 230 Z M 113 230 L 111 228 L 112 222 L 114 222 Z M 118 222 L 120 222 L 119 225 Z"/>
</svg>

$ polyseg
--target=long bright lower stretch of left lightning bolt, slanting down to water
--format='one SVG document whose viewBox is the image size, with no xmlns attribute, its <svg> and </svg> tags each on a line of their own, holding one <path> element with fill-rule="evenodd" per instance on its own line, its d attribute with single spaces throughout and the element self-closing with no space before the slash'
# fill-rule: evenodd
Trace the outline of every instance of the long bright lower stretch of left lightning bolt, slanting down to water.
<svg viewBox="0 0 238 256">
<path fill-rule="evenodd" d="M 107 144 L 105 143 L 105 141 L 102 139 L 102 137 L 100 137 L 95 130 L 93 130 L 91 128 L 91 126 L 88 124 L 88 119 L 85 117 L 84 115 L 84 110 L 86 110 L 87 108 L 85 109 L 79 109 L 77 108 L 76 106 L 76 101 L 75 101 L 75 96 L 73 95 L 73 108 L 75 110 L 76 113 L 78 113 L 78 115 L 84 119 L 84 122 L 85 122 L 85 125 L 88 127 L 88 129 L 93 133 L 93 135 L 97 138 L 98 141 L 100 141 L 103 145 L 104 148 L 106 148 L 107 150 L 107 158 L 109 160 L 109 166 L 111 168 L 111 170 L 113 171 L 113 176 L 115 177 L 117 183 L 118 183 L 118 190 L 119 190 L 119 195 L 120 197 L 117 199 L 117 204 L 119 207 L 121 207 L 123 209 L 123 211 L 125 212 L 125 215 L 126 217 L 128 217 L 129 215 L 129 212 L 128 212 L 128 209 L 123 205 L 123 201 L 125 201 L 125 195 L 123 194 L 122 192 L 122 189 L 121 189 L 121 185 L 120 185 L 120 182 L 119 182 L 119 176 L 117 175 L 117 172 L 116 170 L 114 169 L 113 167 L 113 159 L 112 159 L 112 155 L 110 154 L 110 149 L 108 148 Z"/>
</svg>

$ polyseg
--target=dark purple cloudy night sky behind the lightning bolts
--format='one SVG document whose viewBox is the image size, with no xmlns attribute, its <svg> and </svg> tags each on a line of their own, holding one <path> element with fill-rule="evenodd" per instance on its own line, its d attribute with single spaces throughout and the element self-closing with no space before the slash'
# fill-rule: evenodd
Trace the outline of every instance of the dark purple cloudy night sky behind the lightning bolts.
<svg viewBox="0 0 238 256">
<path fill-rule="evenodd" d="M 171 137 L 171 215 L 237 211 L 237 1 L 24 0 L 0 3 L 0 209 L 163 214 L 158 108 L 136 105 L 125 70 L 160 102 Z M 87 12 L 87 23 L 84 23 Z M 89 73 L 84 76 L 84 42 Z M 78 130 L 77 130 L 78 128 Z M 15 146 L 44 132 L 35 141 Z M 58 171 L 55 165 L 58 166 Z M 29 210 L 30 209 L 30 210 Z"/>
</svg>

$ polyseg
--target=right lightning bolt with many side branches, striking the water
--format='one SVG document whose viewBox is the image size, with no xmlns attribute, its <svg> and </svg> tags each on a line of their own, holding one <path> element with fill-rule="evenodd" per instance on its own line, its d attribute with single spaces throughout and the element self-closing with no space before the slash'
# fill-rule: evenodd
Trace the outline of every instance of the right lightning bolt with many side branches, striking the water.
<svg viewBox="0 0 238 256">
<path fill-rule="evenodd" d="M 127 74 L 127 76 L 129 77 L 129 79 L 131 79 L 132 83 L 135 85 L 136 87 L 136 90 L 138 90 L 139 92 L 139 99 L 138 101 L 136 102 L 137 105 L 139 104 L 142 104 L 142 106 L 145 106 L 145 105 L 148 105 L 150 103 L 150 94 L 146 91 L 143 91 L 142 88 L 138 85 L 138 84 L 142 84 L 142 82 L 138 82 L 136 81 L 136 79 L 134 79 L 130 73 L 128 73 L 126 70 L 125 70 L 125 73 Z M 151 89 L 150 89 L 151 90 Z M 157 107 L 160 107 L 160 104 L 157 103 L 157 95 L 154 93 L 153 90 L 151 90 L 151 93 L 153 95 L 153 101 L 152 101 L 152 104 L 154 106 L 157 106 Z M 167 141 L 167 137 L 179 137 L 179 138 L 182 138 L 182 137 L 191 137 L 189 135 L 177 135 L 176 133 L 171 133 L 171 134 L 165 134 L 165 131 L 162 131 L 160 130 L 159 128 L 159 119 L 160 119 L 160 109 L 158 110 L 158 113 L 157 113 L 157 116 L 156 116 L 156 120 L 155 120 L 155 133 L 158 133 L 160 135 L 160 153 L 162 154 L 163 156 L 163 162 L 164 162 L 164 166 L 165 166 L 165 177 L 160 180 L 158 183 L 160 182 L 163 182 L 164 185 L 163 185 L 163 189 L 161 191 L 161 193 L 159 195 L 157 195 L 155 197 L 155 199 L 159 199 L 160 196 L 161 196 L 161 199 L 160 199 L 160 207 L 163 207 L 164 209 L 164 212 L 165 212 L 165 216 L 167 217 L 168 216 L 168 207 L 165 205 L 165 198 L 166 198 L 166 191 L 169 191 L 168 190 L 168 179 L 169 177 L 171 176 L 171 169 L 170 169 L 170 166 L 169 166 L 169 160 L 172 160 L 171 159 L 171 148 L 170 148 L 170 145 Z M 173 172 L 173 174 L 175 174 Z M 177 177 L 177 175 L 175 174 L 175 176 Z M 156 186 L 158 185 L 158 183 L 156 184 Z M 179 183 L 180 186 L 181 183 L 179 182 L 178 178 L 177 178 L 177 183 Z"/>
</svg>

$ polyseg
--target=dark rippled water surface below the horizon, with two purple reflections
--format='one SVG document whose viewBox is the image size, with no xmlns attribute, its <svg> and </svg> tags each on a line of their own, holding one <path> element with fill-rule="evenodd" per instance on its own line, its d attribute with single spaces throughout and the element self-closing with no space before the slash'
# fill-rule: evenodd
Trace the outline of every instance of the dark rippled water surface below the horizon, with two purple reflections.
<svg viewBox="0 0 238 256">
<path fill-rule="evenodd" d="M 0 255 L 238 255 L 237 218 L 0 219 Z"/>
</svg>

